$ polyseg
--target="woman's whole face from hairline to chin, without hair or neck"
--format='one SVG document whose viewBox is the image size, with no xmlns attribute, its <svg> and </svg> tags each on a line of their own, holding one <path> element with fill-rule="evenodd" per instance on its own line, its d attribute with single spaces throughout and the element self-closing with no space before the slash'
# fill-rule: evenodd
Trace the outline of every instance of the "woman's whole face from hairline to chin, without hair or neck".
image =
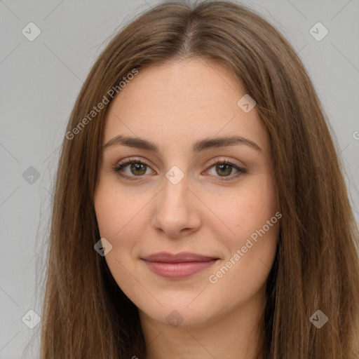
<svg viewBox="0 0 359 359">
<path fill-rule="evenodd" d="M 203 325 L 264 295 L 281 215 L 244 95 L 228 69 L 196 59 L 140 70 L 111 102 L 97 223 L 116 283 L 151 320 Z"/>
</svg>

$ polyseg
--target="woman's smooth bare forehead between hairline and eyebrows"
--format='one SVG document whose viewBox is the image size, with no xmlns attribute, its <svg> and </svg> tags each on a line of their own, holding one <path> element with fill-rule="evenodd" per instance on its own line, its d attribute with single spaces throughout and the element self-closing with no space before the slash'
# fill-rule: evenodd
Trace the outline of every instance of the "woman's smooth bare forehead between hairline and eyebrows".
<svg viewBox="0 0 359 359">
<path fill-rule="evenodd" d="M 180 60 L 140 69 L 111 102 L 104 143 L 125 134 L 165 148 L 236 134 L 265 145 L 255 108 L 245 113 L 238 107 L 243 95 L 245 89 L 234 74 L 217 62 Z"/>
</svg>

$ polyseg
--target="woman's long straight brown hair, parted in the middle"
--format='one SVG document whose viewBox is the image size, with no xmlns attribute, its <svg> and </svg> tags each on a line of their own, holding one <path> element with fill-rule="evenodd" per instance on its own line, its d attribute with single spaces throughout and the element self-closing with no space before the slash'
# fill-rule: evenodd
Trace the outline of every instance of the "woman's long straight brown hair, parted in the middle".
<svg viewBox="0 0 359 359">
<path fill-rule="evenodd" d="M 250 8 L 230 1 L 154 6 L 116 34 L 90 70 L 57 169 L 41 359 L 145 358 L 137 308 L 93 248 L 100 239 L 93 194 L 109 104 L 91 111 L 131 72 L 189 57 L 233 72 L 257 102 L 271 143 L 283 217 L 258 355 L 357 359 L 358 228 L 334 134 L 292 46 Z M 320 329 L 310 320 L 318 310 L 328 318 Z"/>
</svg>

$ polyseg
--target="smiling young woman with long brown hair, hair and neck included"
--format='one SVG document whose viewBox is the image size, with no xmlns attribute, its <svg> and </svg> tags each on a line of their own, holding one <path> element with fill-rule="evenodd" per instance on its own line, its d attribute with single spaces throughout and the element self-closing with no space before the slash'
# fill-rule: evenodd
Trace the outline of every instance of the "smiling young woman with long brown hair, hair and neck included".
<svg viewBox="0 0 359 359">
<path fill-rule="evenodd" d="M 62 145 L 41 358 L 358 358 L 358 229 L 328 128 L 249 8 L 133 20 Z"/>
</svg>

